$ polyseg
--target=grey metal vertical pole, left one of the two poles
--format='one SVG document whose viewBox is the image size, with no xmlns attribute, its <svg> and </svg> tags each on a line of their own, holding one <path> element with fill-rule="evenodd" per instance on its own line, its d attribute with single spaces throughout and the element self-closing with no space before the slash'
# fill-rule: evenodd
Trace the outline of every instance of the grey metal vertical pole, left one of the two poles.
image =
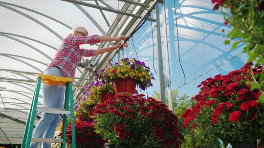
<svg viewBox="0 0 264 148">
<path fill-rule="evenodd" d="M 161 48 L 161 37 L 160 37 L 160 21 L 159 21 L 159 4 L 157 3 L 154 11 L 155 21 L 155 31 L 156 31 L 156 42 L 157 42 L 157 64 L 158 64 L 158 78 L 159 78 L 159 96 L 160 100 L 166 104 L 165 97 L 165 83 L 164 83 L 164 73 L 163 73 L 163 59 L 162 59 L 162 48 Z"/>
</svg>

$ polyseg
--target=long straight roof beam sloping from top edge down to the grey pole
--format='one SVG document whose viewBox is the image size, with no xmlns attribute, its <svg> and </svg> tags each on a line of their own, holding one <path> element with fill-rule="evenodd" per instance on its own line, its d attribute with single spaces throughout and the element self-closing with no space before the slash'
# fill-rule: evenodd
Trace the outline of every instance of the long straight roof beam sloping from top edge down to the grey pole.
<svg viewBox="0 0 264 148">
<path fill-rule="evenodd" d="M 125 11 L 119 11 L 119 10 L 115 10 L 115 9 L 111 9 L 111 8 L 107 8 L 107 7 L 103 7 L 103 6 L 98 6 L 98 5 L 87 3 L 87 2 L 82 2 L 82 1 L 77 1 L 77 0 L 63 0 L 63 1 L 71 2 L 71 3 L 75 3 L 75 4 L 79 4 L 79 5 L 84 5 L 84 6 L 88 6 L 91 8 L 101 9 L 101 10 L 105 10 L 105 11 L 109 11 L 109 12 L 113 12 L 113 13 L 118 13 L 118 14 L 130 16 L 130 17 L 134 17 L 134 18 L 138 18 L 138 19 L 142 18 L 142 16 L 140 16 L 140 15 L 128 13 Z M 155 21 L 155 19 L 148 19 L 148 20 Z"/>
</svg>

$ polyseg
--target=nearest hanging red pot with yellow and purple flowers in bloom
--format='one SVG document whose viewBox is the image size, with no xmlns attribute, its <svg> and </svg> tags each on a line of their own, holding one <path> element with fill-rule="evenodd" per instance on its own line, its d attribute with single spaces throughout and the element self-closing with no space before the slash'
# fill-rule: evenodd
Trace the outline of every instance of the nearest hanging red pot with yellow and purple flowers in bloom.
<svg viewBox="0 0 264 148">
<path fill-rule="evenodd" d="M 120 59 L 120 63 L 105 70 L 102 76 L 114 83 L 116 94 L 126 95 L 134 94 L 136 86 L 145 91 L 147 87 L 153 86 L 151 80 L 154 79 L 150 68 L 135 58 Z"/>
</svg>

